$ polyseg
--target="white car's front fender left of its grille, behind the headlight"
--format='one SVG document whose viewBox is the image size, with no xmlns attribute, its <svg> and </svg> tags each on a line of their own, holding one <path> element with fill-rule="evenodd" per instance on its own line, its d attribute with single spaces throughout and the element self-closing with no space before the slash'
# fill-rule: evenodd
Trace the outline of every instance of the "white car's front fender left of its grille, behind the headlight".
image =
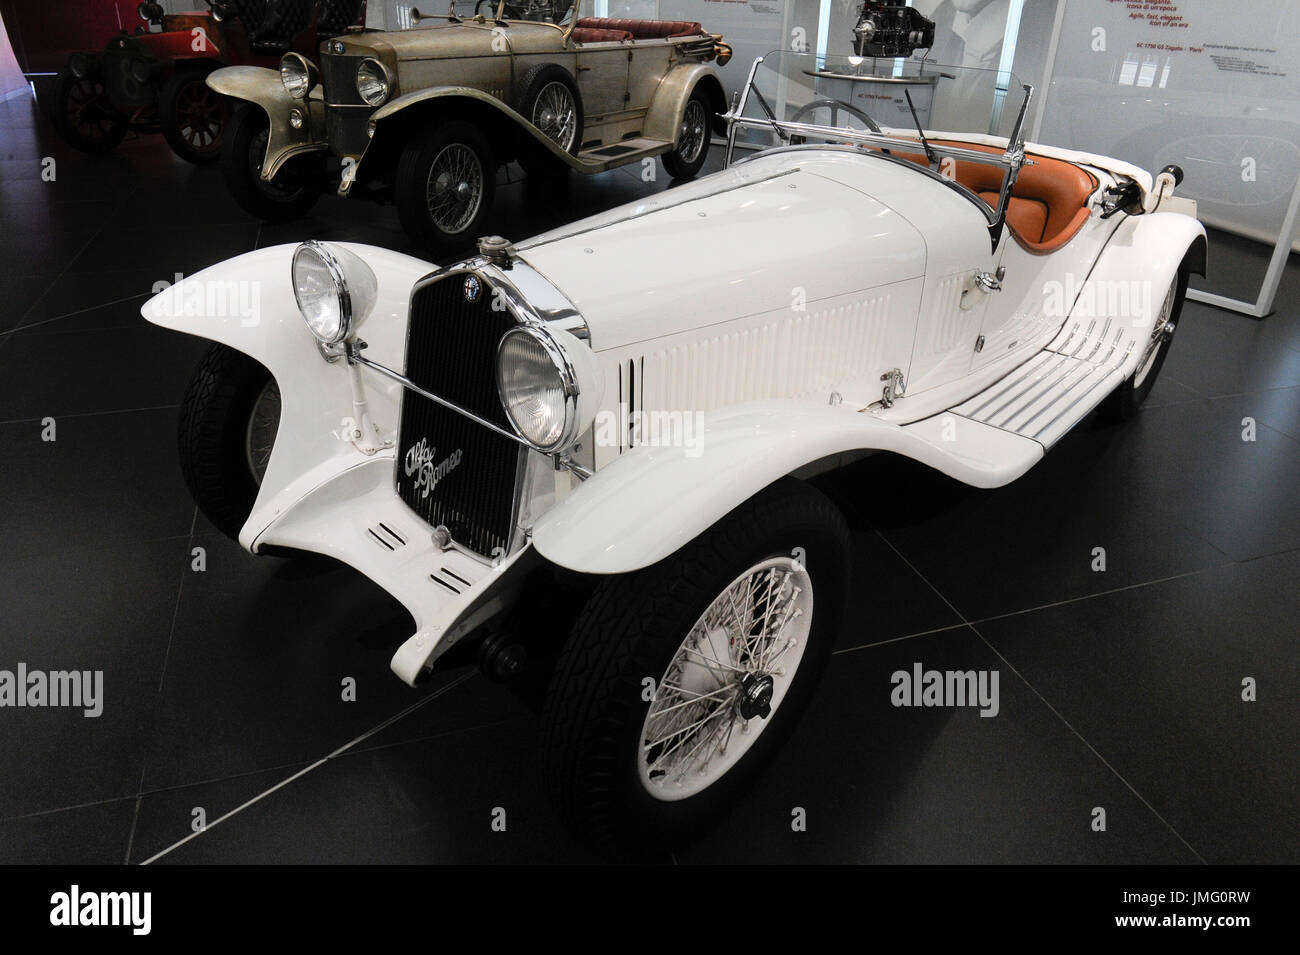
<svg viewBox="0 0 1300 955">
<path fill-rule="evenodd" d="M 363 326 L 367 353 L 402 368 L 411 287 L 433 266 L 387 249 L 338 244 L 363 256 L 378 279 L 374 311 Z M 248 355 L 280 386 L 282 407 L 274 451 L 252 513 L 239 533 L 239 542 L 250 551 L 280 543 L 266 535 L 268 528 L 286 518 L 317 487 L 373 460 L 347 437 L 346 422 L 354 413 L 348 365 L 321 357 L 294 301 L 290 262 L 295 248 L 276 246 L 213 265 L 153 296 L 140 309 L 155 325 Z M 376 425 L 395 430 L 400 386 L 372 376 L 365 387 Z"/>
</svg>

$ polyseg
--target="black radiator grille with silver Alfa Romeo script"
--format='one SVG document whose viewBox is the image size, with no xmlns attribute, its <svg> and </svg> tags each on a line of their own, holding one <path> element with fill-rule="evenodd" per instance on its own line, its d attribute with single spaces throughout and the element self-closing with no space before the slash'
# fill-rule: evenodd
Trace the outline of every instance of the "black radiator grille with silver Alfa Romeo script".
<svg viewBox="0 0 1300 955">
<path fill-rule="evenodd" d="M 430 394 L 510 431 L 497 398 L 497 344 L 515 325 L 494 311 L 491 288 L 468 273 L 416 286 L 411 295 L 406 376 Z M 478 279 L 474 279 L 476 282 Z M 398 438 L 398 495 L 432 526 L 446 525 L 458 543 L 485 557 L 510 550 L 526 452 L 464 414 L 407 390 Z"/>
</svg>

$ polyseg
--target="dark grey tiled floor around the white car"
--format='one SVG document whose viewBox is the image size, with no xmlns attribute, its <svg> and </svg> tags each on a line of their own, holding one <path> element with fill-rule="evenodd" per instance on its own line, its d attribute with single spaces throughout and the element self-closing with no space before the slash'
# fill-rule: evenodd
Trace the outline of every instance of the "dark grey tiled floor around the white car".
<svg viewBox="0 0 1300 955">
<path fill-rule="evenodd" d="M 519 238 L 666 186 L 637 166 L 538 195 L 508 170 L 498 203 Z M 261 226 L 160 140 L 91 160 L 20 100 L 0 229 L 0 667 L 101 668 L 110 700 L 0 711 L 0 861 L 592 860 L 542 798 L 520 703 L 469 669 L 408 690 L 400 607 L 341 565 L 250 557 L 179 477 L 202 344 L 143 322 L 155 283 L 308 236 L 411 252 L 391 207 Z M 1086 422 L 1009 487 L 888 457 L 828 476 L 855 530 L 837 652 L 771 770 L 676 858 L 1300 860 L 1295 264 L 1278 301 L 1262 322 L 1188 304 L 1143 414 Z M 1000 715 L 889 706 L 915 661 L 997 669 Z"/>
</svg>

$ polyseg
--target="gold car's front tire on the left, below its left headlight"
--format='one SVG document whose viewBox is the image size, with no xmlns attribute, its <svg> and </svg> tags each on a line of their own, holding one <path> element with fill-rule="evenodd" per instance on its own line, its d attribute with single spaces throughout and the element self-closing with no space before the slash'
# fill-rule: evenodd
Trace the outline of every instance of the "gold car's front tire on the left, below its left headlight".
<svg viewBox="0 0 1300 955">
<path fill-rule="evenodd" d="M 265 222 L 300 218 L 325 191 L 325 155 L 289 160 L 270 182 L 261 181 L 270 121 L 261 107 L 240 104 L 225 129 L 221 175 L 239 207 Z"/>
</svg>

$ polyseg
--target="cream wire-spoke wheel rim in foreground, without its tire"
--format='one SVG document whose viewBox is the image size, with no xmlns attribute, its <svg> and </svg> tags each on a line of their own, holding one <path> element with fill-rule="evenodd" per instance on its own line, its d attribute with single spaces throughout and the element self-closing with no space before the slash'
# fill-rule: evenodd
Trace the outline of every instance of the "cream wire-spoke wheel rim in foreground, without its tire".
<svg viewBox="0 0 1300 955">
<path fill-rule="evenodd" d="M 656 799 L 688 799 L 749 751 L 794 678 L 812 581 L 792 557 L 737 577 L 681 642 L 646 713 L 637 765 Z"/>
</svg>

